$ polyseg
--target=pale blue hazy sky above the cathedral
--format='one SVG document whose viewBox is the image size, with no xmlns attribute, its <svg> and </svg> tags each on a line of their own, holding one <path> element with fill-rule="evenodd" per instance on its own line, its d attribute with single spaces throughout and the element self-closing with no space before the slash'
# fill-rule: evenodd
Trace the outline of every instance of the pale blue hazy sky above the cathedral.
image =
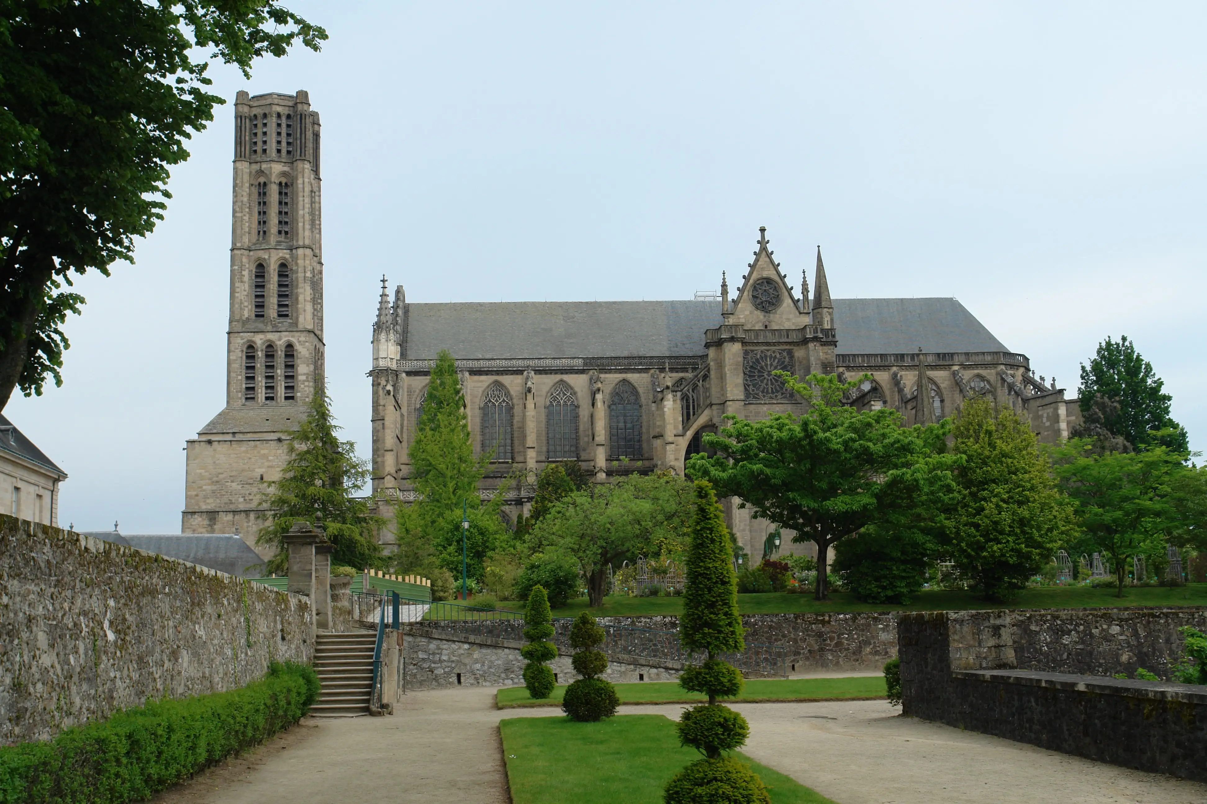
<svg viewBox="0 0 1207 804">
<path fill-rule="evenodd" d="M 322 117 L 327 377 L 363 457 L 383 275 L 688 299 L 759 225 L 794 281 L 820 243 L 834 297 L 960 299 L 1069 397 L 1127 335 L 1207 450 L 1202 4 L 287 5 L 322 52 L 211 68 L 228 104 L 165 219 L 77 282 L 63 387 L 4 411 L 70 475 L 63 524 L 180 532 L 185 440 L 225 403 L 240 89 Z"/>
</svg>

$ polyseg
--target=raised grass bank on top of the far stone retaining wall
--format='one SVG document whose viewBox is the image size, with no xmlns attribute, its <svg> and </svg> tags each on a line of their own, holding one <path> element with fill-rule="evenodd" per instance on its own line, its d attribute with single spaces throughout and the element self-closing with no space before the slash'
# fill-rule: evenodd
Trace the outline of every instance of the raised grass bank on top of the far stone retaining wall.
<svg viewBox="0 0 1207 804">
<path fill-rule="evenodd" d="M 471 600 L 472 603 L 472 600 Z M 500 603 L 500 608 L 521 611 L 523 603 Z M 861 603 L 850 592 L 832 592 L 824 603 L 814 600 L 811 594 L 739 594 L 737 608 L 746 615 L 794 614 L 807 611 L 964 611 L 975 609 L 1088 609 L 1098 606 L 1201 606 L 1207 605 L 1207 583 L 1190 583 L 1180 587 L 1132 587 L 1125 588 L 1124 597 L 1116 598 L 1114 588 L 1089 586 L 1039 586 L 1024 589 L 1008 604 L 986 603 L 972 592 L 947 592 L 925 589 L 910 605 L 876 605 Z M 590 609 L 585 598 L 571 600 L 561 609 L 554 609 L 554 617 L 573 617 L 579 611 L 590 611 L 599 617 L 678 615 L 683 610 L 683 598 L 629 598 L 608 597 L 601 609 Z"/>
</svg>

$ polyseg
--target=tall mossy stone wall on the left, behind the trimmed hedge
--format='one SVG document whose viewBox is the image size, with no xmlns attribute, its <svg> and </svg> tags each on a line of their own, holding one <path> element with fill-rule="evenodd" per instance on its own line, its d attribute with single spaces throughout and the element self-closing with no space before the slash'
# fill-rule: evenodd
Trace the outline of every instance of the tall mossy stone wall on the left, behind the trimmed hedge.
<svg viewBox="0 0 1207 804">
<path fill-rule="evenodd" d="M 310 662 L 310 601 L 0 516 L 0 745 Z"/>
</svg>

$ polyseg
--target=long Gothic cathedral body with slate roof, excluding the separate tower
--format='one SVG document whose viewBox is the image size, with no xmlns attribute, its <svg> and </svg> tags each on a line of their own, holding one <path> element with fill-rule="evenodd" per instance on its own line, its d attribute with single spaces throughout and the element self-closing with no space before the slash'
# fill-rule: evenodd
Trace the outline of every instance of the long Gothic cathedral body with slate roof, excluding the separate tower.
<svg viewBox="0 0 1207 804">
<path fill-rule="evenodd" d="M 771 375 L 781 369 L 869 375 L 847 403 L 893 406 L 909 424 L 986 397 L 1027 416 L 1045 441 L 1068 436 L 1075 400 L 1032 375 L 1026 356 L 1009 352 L 958 301 L 832 299 L 820 250 L 810 301 L 807 277 L 801 272 L 798 293 L 769 242 L 760 229 L 736 292 L 722 276 L 711 301 L 414 304 L 401 286 L 391 299 L 383 281 L 369 371 L 373 491 L 414 499 L 407 451 L 442 348 L 457 360 L 476 450 L 496 456 L 479 493 L 523 477 L 505 507 L 513 517 L 529 512 L 535 479 L 550 462 L 578 460 L 600 482 L 682 473 L 724 416 L 803 412 L 804 401 Z M 724 501 L 729 528 L 762 556 L 776 526 L 739 503 Z M 812 554 L 793 535 L 782 534 L 781 552 Z"/>
</svg>

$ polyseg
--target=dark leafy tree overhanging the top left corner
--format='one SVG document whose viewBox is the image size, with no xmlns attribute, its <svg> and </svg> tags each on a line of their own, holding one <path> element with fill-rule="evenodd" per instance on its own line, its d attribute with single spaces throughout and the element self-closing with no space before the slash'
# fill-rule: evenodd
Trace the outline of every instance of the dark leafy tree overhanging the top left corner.
<svg viewBox="0 0 1207 804">
<path fill-rule="evenodd" d="M 0 409 L 62 385 L 62 325 L 89 269 L 133 262 L 167 209 L 169 168 L 240 68 L 327 39 L 275 0 L 0 0 Z M 196 54 L 209 51 L 206 55 Z"/>
</svg>

